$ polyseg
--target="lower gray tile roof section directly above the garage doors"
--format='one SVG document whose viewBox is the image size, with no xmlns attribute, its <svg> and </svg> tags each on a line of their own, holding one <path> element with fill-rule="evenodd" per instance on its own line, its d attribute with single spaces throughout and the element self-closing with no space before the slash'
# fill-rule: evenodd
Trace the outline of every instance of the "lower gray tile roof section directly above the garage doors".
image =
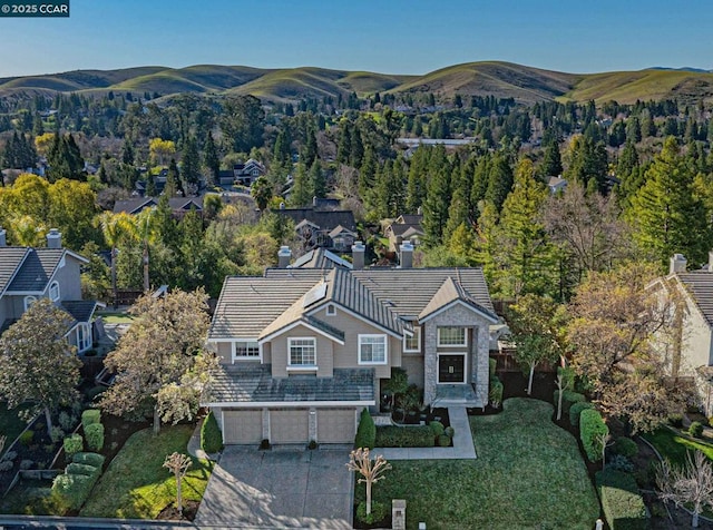
<svg viewBox="0 0 713 530">
<path fill-rule="evenodd" d="M 272 377 L 270 364 L 221 365 L 208 403 L 374 401 L 373 369 L 334 369 L 333 377 Z"/>
</svg>

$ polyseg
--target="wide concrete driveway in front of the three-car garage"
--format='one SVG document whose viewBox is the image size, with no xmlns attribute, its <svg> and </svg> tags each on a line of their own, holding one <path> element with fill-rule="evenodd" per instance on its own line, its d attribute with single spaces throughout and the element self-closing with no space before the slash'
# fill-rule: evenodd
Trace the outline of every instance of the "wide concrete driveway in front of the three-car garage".
<svg viewBox="0 0 713 530">
<path fill-rule="evenodd" d="M 227 446 L 195 520 L 198 527 L 351 529 L 349 450 Z"/>
</svg>

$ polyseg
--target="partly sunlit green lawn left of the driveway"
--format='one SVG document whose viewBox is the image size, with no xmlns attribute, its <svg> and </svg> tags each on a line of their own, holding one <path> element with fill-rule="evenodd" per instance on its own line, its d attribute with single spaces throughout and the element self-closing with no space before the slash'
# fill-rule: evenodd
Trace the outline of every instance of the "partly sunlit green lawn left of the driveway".
<svg viewBox="0 0 713 530">
<path fill-rule="evenodd" d="M 163 467 L 167 454 L 186 453 L 193 433 L 189 425 L 162 428 L 158 436 L 150 429 L 128 439 L 121 451 L 101 475 L 81 517 L 155 518 L 176 501 L 176 479 Z M 208 483 L 213 463 L 193 460 L 183 480 L 183 498 L 201 500 Z"/>
</svg>

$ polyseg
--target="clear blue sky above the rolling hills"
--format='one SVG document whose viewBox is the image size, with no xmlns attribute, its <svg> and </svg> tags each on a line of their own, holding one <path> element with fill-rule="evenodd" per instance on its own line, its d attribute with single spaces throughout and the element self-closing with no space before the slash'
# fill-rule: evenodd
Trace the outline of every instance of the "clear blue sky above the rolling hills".
<svg viewBox="0 0 713 530">
<path fill-rule="evenodd" d="M 0 77 L 199 63 L 388 73 L 482 60 L 567 72 L 713 68 L 710 0 L 70 1 L 68 19 L 0 18 Z"/>
</svg>

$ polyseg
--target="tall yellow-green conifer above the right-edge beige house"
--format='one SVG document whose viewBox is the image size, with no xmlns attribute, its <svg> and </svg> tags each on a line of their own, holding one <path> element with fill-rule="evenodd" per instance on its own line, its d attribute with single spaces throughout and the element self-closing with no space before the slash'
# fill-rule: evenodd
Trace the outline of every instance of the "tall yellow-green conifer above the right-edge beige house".
<svg viewBox="0 0 713 530">
<path fill-rule="evenodd" d="M 694 193 L 694 174 L 686 167 L 674 137 L 646 170 L 646 181 L 632 198 L 629 217 L 642 249 L 662 263 L 683 254 L 690 263 L 703 263 L 713 244 L 710 213 Z"/>
</svg>

